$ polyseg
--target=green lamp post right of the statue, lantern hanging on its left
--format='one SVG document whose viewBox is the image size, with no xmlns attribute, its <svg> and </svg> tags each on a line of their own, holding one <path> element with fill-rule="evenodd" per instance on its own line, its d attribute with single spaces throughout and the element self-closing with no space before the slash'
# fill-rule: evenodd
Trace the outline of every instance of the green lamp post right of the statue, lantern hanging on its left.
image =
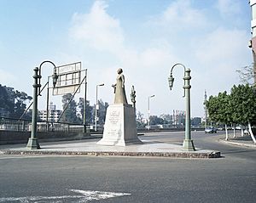
<svg viewBox="0 0 256 203">
<path fill-rule="evenodd" d="M 172 70 L 175 66 L 181 65 L 184 68 L 184 96 L 186 99 L 186 124 L 185 124 L 185 139 L 183 140 L 183 149 L 188 150 L 188 151 L 195 151 L 195 147 L 193 144 L 193 140 L 191 139 L 191 126 L 190 126 L 190 84 L 189 81 L 191 79 L 190 76 L 190 69 L 186 69 L 186 67 L 182 64 L 176 64 L 172 66 Z M 172 76 L 172 70 L 171 70 L 171 75 L 168 78 L 169 82 L 169 87 L 170 90 L 172 90 L 173 82 L 174 82 L 174 77 Z"/>
</svg>

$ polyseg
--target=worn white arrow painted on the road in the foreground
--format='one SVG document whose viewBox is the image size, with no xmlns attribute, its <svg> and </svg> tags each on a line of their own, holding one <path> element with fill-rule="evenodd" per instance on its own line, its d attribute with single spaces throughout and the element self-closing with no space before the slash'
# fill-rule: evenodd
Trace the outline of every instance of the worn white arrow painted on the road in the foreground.
<svg viewBox="0 0 256 203">
<path fill-rule="evenodd" d="M 103 191 L 92 191 L 92 190 L 81 190 L 81 189 L 69 189 L 74 193 L 79 193 L 80 195 L 63 195 L 63 196 L 28 196 L 28 197 L 2 197 L 0 202 L 38 202 L 50 200 L 50 202 L 61 203 L 63 200 L 68 200 L 69 202 L 88 202 L 90 200 L 104 200 L 113 197 L 131 195 L 129 193 L 113 193 L 113 192 L 103 192 Z"/>
</svg>

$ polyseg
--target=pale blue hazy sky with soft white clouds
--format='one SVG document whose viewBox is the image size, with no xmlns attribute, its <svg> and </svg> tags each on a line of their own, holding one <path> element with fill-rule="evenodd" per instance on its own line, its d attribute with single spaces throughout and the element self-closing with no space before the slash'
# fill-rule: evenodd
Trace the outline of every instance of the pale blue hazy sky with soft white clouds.
<svg viewBox="0 0 256 203">
<path fill-rule="evenodd" d="M 88 69 L 88 100 L 113 103 L 122 67 L 128 101 L 147 116 L 184 110 L 183 68 L 191 69 L 191 116 L 203 116 L 204 91 L 215 95 L 239 83 L 251 65 L 251 9 L 247 0 L 0 0 L 0 83 L 32 95 L 33 68 L 81 61 Z M 43 83 L 52 66 L 42 68 Z M 82 89 L 83 92 L 83 89 Z M 80 97 L 84 93 L 79 94 Z M 50 97 L 61 108 L 61 97 Z M 39 109 L 45 106 L 39 98 Z"/>
</svg>

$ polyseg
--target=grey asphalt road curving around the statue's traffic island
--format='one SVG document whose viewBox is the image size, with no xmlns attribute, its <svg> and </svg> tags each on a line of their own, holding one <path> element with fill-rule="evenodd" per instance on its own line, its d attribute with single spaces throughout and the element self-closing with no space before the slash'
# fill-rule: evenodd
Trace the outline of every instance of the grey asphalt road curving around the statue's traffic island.
<svg viewBox="0 0 256 203">
<path fill-rule="evenodd" d="M 141 138 L 182 144 L 183 133 Z M 220 144 L 215 134 L 192 138 L 223 157 L 0 155 L 0 202 L 255 202 L 256 150 Z"/>
</svg>

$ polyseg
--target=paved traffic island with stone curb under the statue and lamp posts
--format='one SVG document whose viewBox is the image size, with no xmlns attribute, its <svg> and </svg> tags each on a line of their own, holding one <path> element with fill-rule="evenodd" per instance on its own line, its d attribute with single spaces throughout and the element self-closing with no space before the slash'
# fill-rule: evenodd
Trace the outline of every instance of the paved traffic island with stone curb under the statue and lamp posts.
<svg viewBox="0 0 256 203">
<path fill-rule="evenodd" d="M 0 155 L 90 155 L 90 156 L 139 156 L 189 159 L 211 159 L 221 157 L 219 151 L 196 149 L 185 151 L 182 145 L 143 141 L 130 146 L 102 146 L 96 142 L 49 144 L 42 149 L 2 149 Z"/>
</svg>

